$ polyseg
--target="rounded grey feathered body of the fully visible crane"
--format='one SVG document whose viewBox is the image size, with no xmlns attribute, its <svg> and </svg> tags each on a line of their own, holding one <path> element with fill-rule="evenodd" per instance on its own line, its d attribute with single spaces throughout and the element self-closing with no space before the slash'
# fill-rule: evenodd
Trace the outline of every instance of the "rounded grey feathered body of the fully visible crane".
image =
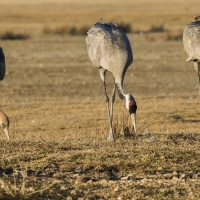
<svg viewBox="0 0 200 200">
<path fill-rule="evenodd" d="M 86 44 L 89 59 L 95 67 L 113 72 L 112 68 L 124 70 L 133 61 L 128 37 L 115 23 L 94 24 L 88 31 Z"/>
</svg>

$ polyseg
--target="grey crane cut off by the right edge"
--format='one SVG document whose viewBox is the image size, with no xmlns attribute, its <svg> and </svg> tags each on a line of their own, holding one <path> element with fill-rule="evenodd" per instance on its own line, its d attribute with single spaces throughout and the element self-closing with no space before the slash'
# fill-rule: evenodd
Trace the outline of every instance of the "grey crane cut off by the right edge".
<svg viewBox="0 0 200 200">
<path fill-rule="evenodd" d="M 188 58 L 186 61 L 194 62 L 194 68 L 198 73 L 200 94 L 200 16 L 195 17 L 183 31 L 183 46 Z"/>
</svg>

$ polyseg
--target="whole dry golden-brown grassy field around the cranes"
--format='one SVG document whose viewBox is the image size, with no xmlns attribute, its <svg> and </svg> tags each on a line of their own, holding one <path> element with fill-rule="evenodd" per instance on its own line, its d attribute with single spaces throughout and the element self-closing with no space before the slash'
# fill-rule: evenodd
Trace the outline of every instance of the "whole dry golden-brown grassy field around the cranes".
<svg viewBox="0 0 200 200">
<path fill-rule="evenodd" d="M 199 1 L 26 2 L 0 2 L 0 199 L 200 199 L 200 96 L 182 45 Z M 134 53 L 124 88 L 137 132 L 116 97 L 114 142 L 85 44 L 101 17 L 129 26 Z"/>
</svg>

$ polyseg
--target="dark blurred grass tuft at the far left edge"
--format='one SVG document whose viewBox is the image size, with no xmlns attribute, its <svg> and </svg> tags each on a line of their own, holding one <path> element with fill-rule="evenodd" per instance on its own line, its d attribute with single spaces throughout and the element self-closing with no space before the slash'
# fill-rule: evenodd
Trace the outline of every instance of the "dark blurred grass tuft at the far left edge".
<svg viewBox="0 0 200 200">
<path fill-rule="evenodd" d="M 11 31 L 7 31 L 0 36 L 2 40 L 26 40 L 30 37 L 29 34 L 26 33 L 13 33 Z"/>
</svg>

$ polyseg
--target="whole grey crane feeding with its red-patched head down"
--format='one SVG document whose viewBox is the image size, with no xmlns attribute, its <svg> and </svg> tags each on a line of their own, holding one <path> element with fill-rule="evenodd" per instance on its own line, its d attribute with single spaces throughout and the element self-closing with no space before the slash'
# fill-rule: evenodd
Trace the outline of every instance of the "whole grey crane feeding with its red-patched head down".
<svg viewBox="0 0 200 200">
<path fill-rule="evenodd" d="M 123 80 L 127 68 L 133 62 L 131 44 L 127 35 L 114 22 L 101 23 L 100 19 L 87 32 L 86 38 L 88 56 L 94 67 L 99 69 L 103 81 L 105 101 L 107 103 L 110 133 L 108 140 L 114 140 L 112 119 L 115 90 L 121 99 L 126 99 L 126 108 L 129 110 L 134 129 L 136 131 L 136 101 L 131 94 L 125 94 Z M 114 77 L 114 87 L 109 106 L 109 97 L 106 92 L 106 71 L 110 71 Z"/>
</svg>

